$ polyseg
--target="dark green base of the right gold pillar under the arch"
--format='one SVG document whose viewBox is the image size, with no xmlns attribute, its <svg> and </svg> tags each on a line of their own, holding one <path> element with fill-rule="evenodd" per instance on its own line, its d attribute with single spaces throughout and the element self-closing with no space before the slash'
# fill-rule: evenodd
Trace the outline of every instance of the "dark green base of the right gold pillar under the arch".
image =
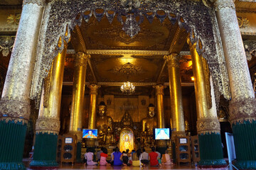
<svg viewBox="0 0 256 170">
<path fill-rule="evenodd" d="M 223 159 L 223 149 L 219 133 L 206 133 L 198 135 L 200 162 L 202 168 L 221 168 L 227 166 Z"/>
</svg>

